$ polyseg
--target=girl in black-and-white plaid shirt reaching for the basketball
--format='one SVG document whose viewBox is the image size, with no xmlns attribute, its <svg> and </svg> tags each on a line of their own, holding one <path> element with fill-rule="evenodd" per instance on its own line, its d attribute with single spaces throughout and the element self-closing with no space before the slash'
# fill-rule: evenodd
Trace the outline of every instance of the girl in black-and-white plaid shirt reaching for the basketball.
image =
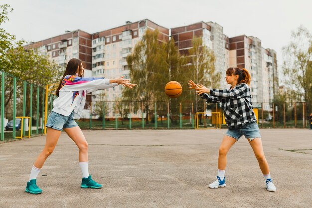
<svg viewBox="0 0 312 208">
<path fill-rule="evenodd" d="M 268 162 L 264 156 L 261 135 L 257 124 L 257 118 L 253 111 L 250 94 L 250 74 L 246 69 L 228 68 L 225 80 L 231 85 L 230 89 L 209 89 L 202 84 L 195 84 L 188 80 L 189 88 L 206 99 L 208 103 L 221 103 L 223 114 L 228 127 L 219 148 L 218 176 L 217 180 L 209 184 L 209 188 L 225 187 L 226 154 L 235 142 L 243 135 L 247 138 L 258 160 L 260 169 L 265 178 L 266 188 L 270 192 L 276 192 L 272 183 Z"/>
</svg>

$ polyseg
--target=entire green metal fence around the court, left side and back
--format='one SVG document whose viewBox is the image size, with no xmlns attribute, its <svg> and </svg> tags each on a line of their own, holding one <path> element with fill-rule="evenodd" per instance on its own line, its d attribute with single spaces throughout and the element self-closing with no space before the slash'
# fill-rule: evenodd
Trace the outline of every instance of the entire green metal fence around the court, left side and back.
<svg viewBox="0 0 312 208">
<path fill-rule="evenodd" d="M 28 116 L 32 127 L 30 135 L 44 133 L 44 116 L 48 115 L 56 96 L 46 89 L 0 71 L 1 75 L 1 137 L 9 140 L 29 132 L 16 130 L 5 131 L 4 119 Z M 90 99 L 89 97 L 88 100 Z M 45 104 L 47 109 L 45 110 Z M 254 104 L 260 128 L 310 128 L 312 103 L 256 103 Z M 220 112 L 220 104 L 206 104 L 200 100 L 195 102 L 117 102 L 87 101 L 83 115 L 76 120 L 82 129 L 194 129 L 196 112 L 204 112 L 198 117 L 199 128 L 216 128 L 216 114 Z M 227 128 L 223 119 L 221 128 Z"/>
</svg>

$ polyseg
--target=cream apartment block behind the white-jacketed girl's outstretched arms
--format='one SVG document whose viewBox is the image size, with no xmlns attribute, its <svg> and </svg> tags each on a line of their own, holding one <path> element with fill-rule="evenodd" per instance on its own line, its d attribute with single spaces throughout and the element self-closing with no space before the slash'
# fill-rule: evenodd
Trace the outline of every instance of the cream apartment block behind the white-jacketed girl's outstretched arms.
<svg viewBox="0 0 312 208">
<path fill-rule="evenodd" d="M 116 78 L 130 77 L 127 56 L 131 54 L 138 41 L 141 40 L 147 29 L 158 30 L 158 40 L 166 42 L 169 40 L 169 29 L 155 22 L 144 19 L 137 22 L 127 21 L 126 24 L 92 34 L 92 76 Z M 116 100 L 121 97 L 123 86 L 118 86 L 103 91 L 92 93 L 92 100 Z M 113 105 L 112 103 L 110 105 Z M 109 109 L 113 109 L 110 106 Z M 109 112 L 107 116 L 114 116 Z"/>
</svg>

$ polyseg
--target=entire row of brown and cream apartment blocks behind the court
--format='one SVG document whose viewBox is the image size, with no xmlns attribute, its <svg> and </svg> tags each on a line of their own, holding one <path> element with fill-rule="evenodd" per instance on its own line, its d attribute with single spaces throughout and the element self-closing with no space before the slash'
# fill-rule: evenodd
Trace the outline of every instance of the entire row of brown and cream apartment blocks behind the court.
<svg viewBox="0 0 312 208">
<path fill-rule="evenodd" d="M 71 58 L 79 58 L 86 63 L 85 76 L 114 78 L 130 77 L 127 56 L 147 29 L 159 31 L 159 41 L 174 39 L 180 54 L 187 55 L 194 37 L 202 37 L 203 45 L 212 49 L 215 55 L 216 72 L 221 72 L 220 87 L 228 87 L 224 79 L 228 67 L 246 68 L 252 76 L 251 94 L 254 103 L 272 102 L 278 93 L 278 74 L 276 52 L 264 49 L 261 40 L 254 36 L 240 35 L 228 37 L 223 27 L 215 22 L 200 21 L 170 30 L 149 19 L 136 22 L 127 21 L 124 25 L 99 31 L 93 34 L 82 30 L 66 33 L 26 45 L 25 48 L 38 48 L 48 54 L 61 66 Z M 96 91 L 92 100 L 114 101 L 120 97 L 121 86 Z M 113 115 L 113 114 L 112 114 Z"/>
</svg>

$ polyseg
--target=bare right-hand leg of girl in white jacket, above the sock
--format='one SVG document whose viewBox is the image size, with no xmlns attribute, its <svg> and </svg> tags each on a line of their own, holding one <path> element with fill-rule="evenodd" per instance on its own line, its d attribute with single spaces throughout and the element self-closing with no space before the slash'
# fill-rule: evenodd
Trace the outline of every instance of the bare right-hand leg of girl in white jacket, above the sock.
<svg viewBox="0 0 312 208">
<path fill-rule="evenodd" d="M 88 162 L 88 143 L 79 126 L 63 129 L 79 148 L 79 162 Z"/>
</svg>

